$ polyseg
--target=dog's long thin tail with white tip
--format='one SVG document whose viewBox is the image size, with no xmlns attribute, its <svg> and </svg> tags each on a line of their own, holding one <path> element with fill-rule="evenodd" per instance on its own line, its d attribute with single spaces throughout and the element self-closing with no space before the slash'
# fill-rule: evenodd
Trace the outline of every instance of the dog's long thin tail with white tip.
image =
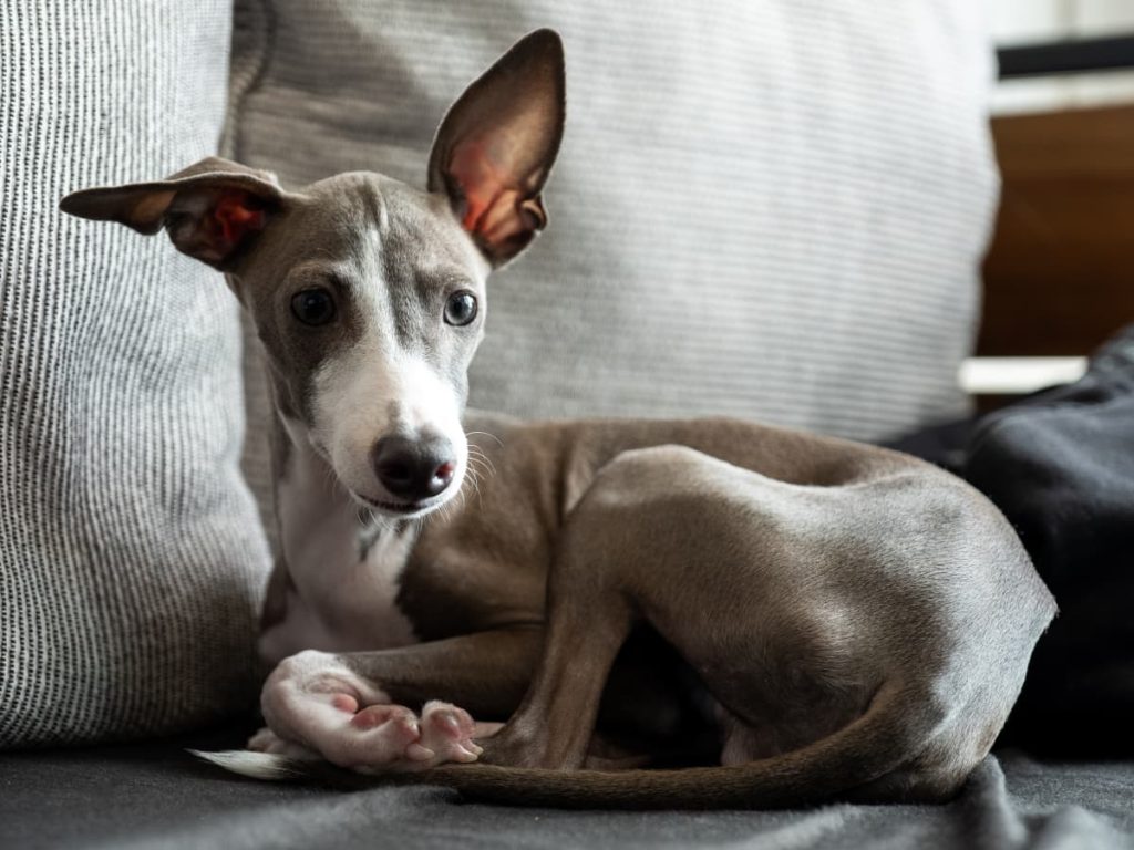
<svg viewBox="0 0 1134 850">
<path fill-rule="evenodd" d="M 446 765 L 415 773 L 364 775 L 325 762 L 260 753 L 196 753 L 256 779 L 307 779 L 340 788 L 443 785 L 489 802 L 556 808 L 777 808 L 837 799 L 899 768 L 938 731 L 943 715 L 930 700 L 883 686 L 868 711 L 806 747 L 721 767 L 551 771 L 497 765 Z"/>
</svg>

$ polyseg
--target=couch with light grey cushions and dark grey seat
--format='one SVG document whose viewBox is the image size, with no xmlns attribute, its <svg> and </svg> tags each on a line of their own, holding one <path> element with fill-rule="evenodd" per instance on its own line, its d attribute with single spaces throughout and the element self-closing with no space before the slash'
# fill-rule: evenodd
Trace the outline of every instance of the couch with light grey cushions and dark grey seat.
<svg viewBox="0 0 1134 850">
<path fill-rule="evenodd" d="M 493 280 L 473 403 L 874 441 L 967 413 L 997 197 L 970 0 L 8 6 L 0 844 L 1129 843 L 1129 764 L 1027 739 L 947 806 L 651 815 L 259 784 L 185 751 L 255 724 L 262 365 L 215 275 L 56 204 L 218 151 L 289 184 L 421 182 L 446 103 L 542 25 L 567 43 L 568 141 L 549 231 Z"/>
</svg>

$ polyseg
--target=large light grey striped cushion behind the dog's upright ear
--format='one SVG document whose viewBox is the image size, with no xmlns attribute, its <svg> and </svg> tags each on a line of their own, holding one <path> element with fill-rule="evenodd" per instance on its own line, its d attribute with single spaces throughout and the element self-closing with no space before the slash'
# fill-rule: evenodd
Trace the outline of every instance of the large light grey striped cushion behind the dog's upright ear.
<svg viewBox="0 0 1134 850">
<path fill-rule="evenodd" d="M 964 407 L 996 197 L 972 0 L 239 0 L 232 152 L 423 185 L 448 103 L 566 41 L 551 224 L 491 289 L 472 402 L 878 437 Z"/>
</svg>

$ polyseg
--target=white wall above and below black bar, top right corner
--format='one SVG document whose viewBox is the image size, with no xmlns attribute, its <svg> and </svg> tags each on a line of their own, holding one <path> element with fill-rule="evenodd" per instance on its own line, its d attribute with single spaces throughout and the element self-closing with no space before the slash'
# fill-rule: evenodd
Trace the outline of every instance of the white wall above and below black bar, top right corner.
<svg viewBox="0 0 1134 850">
<path fill-rule="evenodd" d="M 1134 0 L 989 0 L 998 44 L 1134 34 Z M 1002 83 L 996 112 L 1073 109 L 1134 102 L 1134 71 Z"/>
</svg>

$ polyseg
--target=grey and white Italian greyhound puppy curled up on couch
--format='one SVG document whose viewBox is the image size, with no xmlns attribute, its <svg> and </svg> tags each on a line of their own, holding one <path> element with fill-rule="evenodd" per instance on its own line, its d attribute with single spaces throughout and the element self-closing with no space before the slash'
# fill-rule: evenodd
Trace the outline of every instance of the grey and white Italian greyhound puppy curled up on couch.
<svg viewBox="0 0 1134 850">
<path fill-rule="evenodd" d="M 260 751 L 213 758 L 556 806 L 948 798 L 1055 614 L 980 493 L 743 422 L 464 414 L 562 127 L 540 31 L 449 110 L 426 192 L 209 159 L 64 199 L 225 272 L 263 343 L 277 665 Z"/>
</svg>

